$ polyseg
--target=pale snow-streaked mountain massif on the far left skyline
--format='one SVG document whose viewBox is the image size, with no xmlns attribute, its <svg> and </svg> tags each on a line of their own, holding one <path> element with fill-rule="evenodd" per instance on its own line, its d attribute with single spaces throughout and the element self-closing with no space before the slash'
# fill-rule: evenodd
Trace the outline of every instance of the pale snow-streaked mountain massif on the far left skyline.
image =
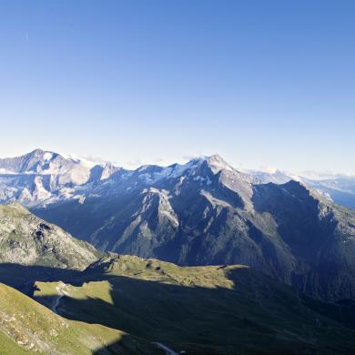
<svg viewBox="0 0 355 355">
<path fill-rule="evenodd" d="M 116 170 L 109 163 L 35 149 L 21 157 L 0 159 L 0 202 L 16 200 L 34 207 L 80 199 L 78 189 L 89 187 Z"/>
</svg>

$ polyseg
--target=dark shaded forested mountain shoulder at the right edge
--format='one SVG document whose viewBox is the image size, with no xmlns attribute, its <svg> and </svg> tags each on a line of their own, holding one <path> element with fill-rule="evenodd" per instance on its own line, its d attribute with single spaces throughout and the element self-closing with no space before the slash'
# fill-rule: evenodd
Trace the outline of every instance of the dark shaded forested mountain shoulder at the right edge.
<svg viewBox="0 0 355 355">
<path fill-rule="evenodd" d="M 326 299 L 354 298 L 354 213 L 330 206 L 294 181 L 256 187 L 255 208 L 275 219 L 297 260 L 290 284 Z"/>
</svg>

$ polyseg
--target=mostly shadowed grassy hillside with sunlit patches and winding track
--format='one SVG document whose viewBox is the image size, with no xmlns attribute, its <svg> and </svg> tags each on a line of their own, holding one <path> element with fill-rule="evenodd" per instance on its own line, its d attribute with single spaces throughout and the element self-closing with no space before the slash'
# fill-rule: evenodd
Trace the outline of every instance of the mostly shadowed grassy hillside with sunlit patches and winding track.
<svg viewBox="0 0 355 355">
<path fill-rule="evenodd" d="M 188 354 L 355 349 L 351 307 L 309 299 L 244 266 L 182 268 L 111 255 L 75 278 L 36 282 L 34 296 L 65 318 L 99 322 Z"/>
</svg>

